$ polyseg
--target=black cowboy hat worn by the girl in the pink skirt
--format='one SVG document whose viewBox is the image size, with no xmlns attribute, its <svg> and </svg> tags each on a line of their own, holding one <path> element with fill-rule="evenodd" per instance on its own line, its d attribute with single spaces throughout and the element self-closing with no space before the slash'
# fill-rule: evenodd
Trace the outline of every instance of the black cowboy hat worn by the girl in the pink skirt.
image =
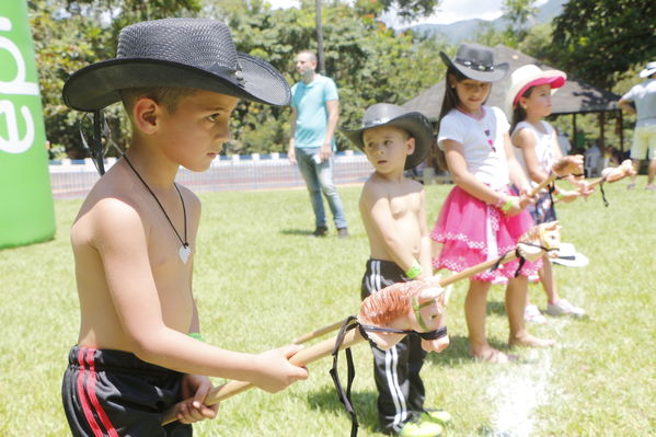
<svg viewBox="0 0 656 437">
<path fill-rule="evenodd" d="M 494 65 L 494 50 L 480 44 L 462 43 L 451 61 L 447 54 L 439 53 L 447 67 L 452 67 L 473 80 L 496 82 L 508 73 L 508 62 Z"/>
</svg>

